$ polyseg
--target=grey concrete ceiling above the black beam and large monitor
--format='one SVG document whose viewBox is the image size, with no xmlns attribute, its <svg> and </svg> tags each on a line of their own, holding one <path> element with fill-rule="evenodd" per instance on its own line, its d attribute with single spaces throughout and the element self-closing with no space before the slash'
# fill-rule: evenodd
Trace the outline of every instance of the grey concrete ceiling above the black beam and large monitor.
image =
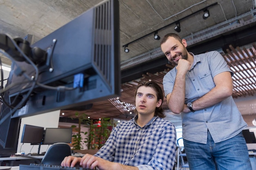
<svg viewBox="0 0 256 170">
<path fill-rule="evenodd" d="M 0 0 L 0 33 L 13 37 L 32 34 L 38 41 L 99 2 L 101 0 Z M 209 7 L 210 12 L 207 20 L 202 18 L 201 9 L 205 7 Z M 255 9 L 254 0 L 119 0 L 121 63 L 159 48 L 159 41 L 153 39 L 154 31 L 158 30 L 160 37 L 175 32 L 177 21 L 181 27 L 178 34 L 187 37 L 234 18 L 237 19 L 229 24 L 237 25 L 244 20 L 238 17 L 252 9 Z M 255 25 L 246 23 L 236 26 L 237 29 L 229 28 L 204 42 Z M 124 52 L 126 44 L 130 49 L 128 53 Z"/>
</svg>

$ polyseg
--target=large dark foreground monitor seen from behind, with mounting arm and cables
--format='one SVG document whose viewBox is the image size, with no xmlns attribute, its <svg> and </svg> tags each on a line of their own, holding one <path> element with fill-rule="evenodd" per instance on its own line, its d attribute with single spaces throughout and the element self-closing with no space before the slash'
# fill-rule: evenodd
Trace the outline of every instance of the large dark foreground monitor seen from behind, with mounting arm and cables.
<svg viewBox="0 0 256 170">
<path fill-rule="evenodd" d="M 3 148 L 17 149 L 20 118 L 120 96 L 118 0 L 100 2 L 31 46 L 0 34 L 0 48 L 15 62 L 4 92 L 10 111 L 0 113 Z"/>
</svg>

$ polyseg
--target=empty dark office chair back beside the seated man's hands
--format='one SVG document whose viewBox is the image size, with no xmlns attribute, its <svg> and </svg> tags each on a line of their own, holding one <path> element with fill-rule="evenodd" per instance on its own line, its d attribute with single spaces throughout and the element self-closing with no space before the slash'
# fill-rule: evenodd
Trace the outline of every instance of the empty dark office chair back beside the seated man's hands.
<svg viewBox="0 0 256 170">
<path fill-rule="evenodd" d="M 71 155 L 71 148 L 66 143 L 53 144 L 43 157 L 42 164 L 61 165 L 63 159 Z"/>
</svg>

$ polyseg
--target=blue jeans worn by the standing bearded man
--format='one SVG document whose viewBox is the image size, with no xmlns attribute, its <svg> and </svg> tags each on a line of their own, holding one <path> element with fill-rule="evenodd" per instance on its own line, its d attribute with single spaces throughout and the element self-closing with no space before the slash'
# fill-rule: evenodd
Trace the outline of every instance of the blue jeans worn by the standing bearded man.
<svg viewBox="0 0 256 170">
<path fill-rule="evenodd" d="M 208 131 L 207 144 L 183 139 L 189 170 L 252 170 L 243 133 L 214 143 Z"/>
</svg>

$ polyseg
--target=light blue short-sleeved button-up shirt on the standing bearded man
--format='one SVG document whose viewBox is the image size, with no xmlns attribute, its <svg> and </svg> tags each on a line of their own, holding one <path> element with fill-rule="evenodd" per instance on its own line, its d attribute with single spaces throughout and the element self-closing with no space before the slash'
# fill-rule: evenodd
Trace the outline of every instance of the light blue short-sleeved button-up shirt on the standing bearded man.
<svg viewBox="0 0 256 170">
<path fill-rule="evenodd" d="M 221 72 L 230 72 L 232 76 L 234 74 L 219 52 L 192 55 L 193 65 L 185 79 L 185 103 L 193 102 L 213 89 L 216 86 L 213 77 L 217 74 Z M 176 74 L 175 67 L 164 76 L 165 95 L 173 91 Z M 234 137 L 247 126 L 232 96 L 211 107 L 181 114 L 182 137 L 202 144 L 207 143 L 207 130 L 211 133 L 213 141 L 218 143 Z"/>
</svg>

